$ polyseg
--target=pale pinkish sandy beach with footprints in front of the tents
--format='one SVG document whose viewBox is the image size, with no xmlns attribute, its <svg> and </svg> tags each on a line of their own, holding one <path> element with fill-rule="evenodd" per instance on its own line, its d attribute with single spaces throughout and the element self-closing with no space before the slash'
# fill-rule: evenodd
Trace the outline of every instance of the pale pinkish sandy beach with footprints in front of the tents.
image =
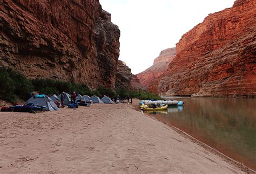
<svg viewBox="0 0 256 174">
<path fill-rule="evenodd" d="M 0 173 L 250 172 L 137 108 L 0 112 Z"/>
</svg>

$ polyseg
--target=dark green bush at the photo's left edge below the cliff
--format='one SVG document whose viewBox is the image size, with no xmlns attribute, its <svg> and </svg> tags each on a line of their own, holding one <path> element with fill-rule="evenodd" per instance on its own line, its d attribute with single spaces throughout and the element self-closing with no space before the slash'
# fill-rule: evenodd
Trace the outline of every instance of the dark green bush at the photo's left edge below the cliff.
<svg viewBox="0 0 256 174">
<path fill-rule="evenodd" d="M 0 98 L 10 102 L 16 102 L 18 98 L 28 99 L 33 86 L 31 82 L 19 72 L 11 68 L 0 67 Z"/>
</svg>

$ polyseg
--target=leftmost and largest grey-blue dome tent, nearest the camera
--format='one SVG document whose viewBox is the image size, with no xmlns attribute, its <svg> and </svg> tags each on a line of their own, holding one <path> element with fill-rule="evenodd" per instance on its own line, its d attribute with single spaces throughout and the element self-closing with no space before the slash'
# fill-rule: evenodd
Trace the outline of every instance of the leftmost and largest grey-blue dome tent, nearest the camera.
<svg viewBox="0 0 256 174">
<path fill-rule="evenodd" d="M 28 101 L 26 101 L 25 105 L 28 103 L 33 103 L 34 105 L 38 106 L 45 106 L 45 110 L 58 110 L 58 107 L 47 95 L 34 95 Z"/>
</svg>

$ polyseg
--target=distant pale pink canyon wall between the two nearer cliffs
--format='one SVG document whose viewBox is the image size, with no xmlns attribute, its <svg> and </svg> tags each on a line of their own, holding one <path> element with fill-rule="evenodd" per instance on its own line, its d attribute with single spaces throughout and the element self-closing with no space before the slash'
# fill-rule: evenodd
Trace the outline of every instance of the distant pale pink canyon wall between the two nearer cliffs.
<svg viewBox="0 0 256 174">
<path fill-rule="evenodd" d="M 137 74 L 137 78 L 142 86 L 146 88 L 152 80 L 159 78 L 159 76 L 165 73 L 175 55 L 176 48 L 168 48 L 161 51 L 159 56 L 154 59 L 154 64 L 151 67 Z"/>
</svg>

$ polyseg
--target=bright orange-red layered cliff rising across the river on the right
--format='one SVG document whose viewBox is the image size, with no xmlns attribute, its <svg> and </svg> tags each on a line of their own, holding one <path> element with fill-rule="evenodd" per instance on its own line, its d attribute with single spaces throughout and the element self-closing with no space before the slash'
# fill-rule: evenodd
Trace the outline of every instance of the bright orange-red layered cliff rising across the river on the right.
<svg viewBox="0 0 256 174">
<path fill-rule="evenodd" d="M 256 95 L 256 1 L 237 0 L 188 31 L 163 78 L 147 89 L 165 96 Z"/>
</svg>

